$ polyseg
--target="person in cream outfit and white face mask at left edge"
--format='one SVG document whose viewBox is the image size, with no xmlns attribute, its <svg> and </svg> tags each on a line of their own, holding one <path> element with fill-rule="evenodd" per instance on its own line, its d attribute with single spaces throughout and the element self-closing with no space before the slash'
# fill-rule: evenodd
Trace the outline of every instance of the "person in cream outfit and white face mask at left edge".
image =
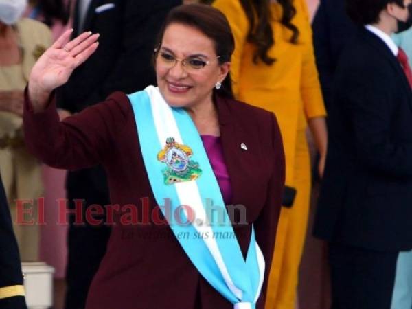
<svg viewBox="0 0 412 309">
<path fill-rule="evenodd" d="M 26 5 L 25 0 L 0 0 L 0 172 L 14 222 L 16 199 L 43 194 L 40 164 L 23 138 L 23 89 L 34 62 L 52 44 L 47 26 L 21 18 Z M 38 260 L 38 227 L 16 222 L 14 231 L 22 260 Z"/>
</svg>

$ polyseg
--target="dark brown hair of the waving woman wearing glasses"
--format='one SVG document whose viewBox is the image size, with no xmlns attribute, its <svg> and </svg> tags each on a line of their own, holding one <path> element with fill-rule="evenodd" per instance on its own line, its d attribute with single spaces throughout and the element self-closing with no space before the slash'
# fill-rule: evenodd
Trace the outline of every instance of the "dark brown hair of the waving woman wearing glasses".
<svg viewBox="0 0 412 309">
<path fill-rule="evenodd" d="M 168 16 L 166 16 L 165 22 L 157 37 L 155 48 L 161 46 L 163 34 L 168 25 L 172 23 L 194 27 L 205 34 L 205 36 L 214 41 L 216 55 L 219 56 L 219 64 L 230 62 L 231 55 L 235 49 L 235 39 L 233 38 L 229 21 L 227 21 L 226 16 L 222 14 L 222 12 L 205 4 L 176 6 L 170 10 Z M 214 89 L 214 91 L 226 97 L 233 98 L 230 73 L 228 73 L 225 80 L 223 80 L 222 87 L 219 90 Z"/>
</svg>

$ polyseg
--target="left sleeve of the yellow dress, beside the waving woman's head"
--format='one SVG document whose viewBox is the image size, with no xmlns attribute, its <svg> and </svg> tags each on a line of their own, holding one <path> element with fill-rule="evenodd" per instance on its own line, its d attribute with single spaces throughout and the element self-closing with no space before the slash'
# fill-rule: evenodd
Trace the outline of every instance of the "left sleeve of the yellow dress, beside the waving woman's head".
<svg viewBox="0 0 412 309">
<path fill-rule="evenodd" d="M 238 98 L 240 85 L 240 69 L 242 67 L 243 47 L 247 41 L 249 32 L 249 21 L 244 14 L 240 1 L 236 0 L 216 0 L 213 6 L 225 14 L 235 38 L 235 50 L 231 56 L 231 80 L 233 95 Z"/>
</svg>

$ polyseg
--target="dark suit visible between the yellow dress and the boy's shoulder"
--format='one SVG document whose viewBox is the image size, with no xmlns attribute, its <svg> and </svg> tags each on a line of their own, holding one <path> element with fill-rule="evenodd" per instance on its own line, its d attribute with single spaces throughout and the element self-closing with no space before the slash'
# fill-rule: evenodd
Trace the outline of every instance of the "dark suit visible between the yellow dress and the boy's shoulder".
<svg viewBox="0 0 412 309">
<path fill-rule="evenodd" d="M 346 14 L 345 0 L 321 0 L 314 15 L 312 30 L 314 56 L 328 110 L 339 56 L 356 32 L 354 23 Z"/>
</svg>

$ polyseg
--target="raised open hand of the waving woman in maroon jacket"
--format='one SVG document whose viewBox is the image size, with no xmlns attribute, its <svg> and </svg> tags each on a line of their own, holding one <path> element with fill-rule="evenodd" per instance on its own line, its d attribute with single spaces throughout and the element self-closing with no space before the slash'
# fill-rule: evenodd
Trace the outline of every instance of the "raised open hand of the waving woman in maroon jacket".
<svg viewBox="0 0 412 309">
<path fill-rule="evenodd" d="M 30 73 L 29 96 L 34 111 L 43 110 L 50 93 L 65 84 L 74 69 L 98 48 L 99 34 L 83 32 L 69 41 L 72 31 L 63 33 L 37 60 Z"/>
</svg>

